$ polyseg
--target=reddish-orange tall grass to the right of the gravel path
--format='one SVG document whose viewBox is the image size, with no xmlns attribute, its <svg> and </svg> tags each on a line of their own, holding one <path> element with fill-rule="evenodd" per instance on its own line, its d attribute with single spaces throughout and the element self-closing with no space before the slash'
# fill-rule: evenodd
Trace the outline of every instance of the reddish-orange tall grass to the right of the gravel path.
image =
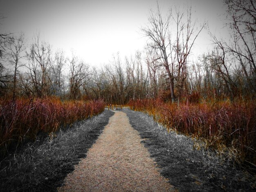
<svg viewBox="0 0 256 192">
<path fill-rule="evenodd" d="M 200 138 L 207 147 L 238 163 L 256 165 L 256 102 L 164 103 L 131 100 L 131 109 L 148 112 L 167 129 Z M 232 160 L 232 161 L 233 161 Z"/>
</svg>

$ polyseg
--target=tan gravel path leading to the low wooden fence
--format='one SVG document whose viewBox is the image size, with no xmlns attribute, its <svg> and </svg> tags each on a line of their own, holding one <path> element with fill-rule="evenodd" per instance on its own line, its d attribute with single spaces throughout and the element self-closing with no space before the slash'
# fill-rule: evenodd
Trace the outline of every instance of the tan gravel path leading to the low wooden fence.
<svg viewBox="0 0 256 192">
<path fill-rule="evenodd" d="M 58 191 L 173 191 L 140 142 L 126 114 L 115 111 Z"/>
</svg>

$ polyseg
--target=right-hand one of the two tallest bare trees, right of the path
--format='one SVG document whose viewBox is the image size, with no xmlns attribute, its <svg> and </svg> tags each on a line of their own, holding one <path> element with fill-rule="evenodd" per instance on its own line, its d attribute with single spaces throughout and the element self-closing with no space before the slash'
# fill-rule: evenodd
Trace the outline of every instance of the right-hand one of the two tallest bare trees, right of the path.
<svg viewBox="0 0 256 192">
<path fill-rule="evenodd" d="M 192 47 L 196 38 L 202 31 L 206 23 L 203 23 L 201 27 L 196 27 L 196 21 L 193 21 L 191 7 L 182 13 L 180 9 L 175 9 L 175 13 L 172 14 L 173 21 L 175 22 L 176 34 L 172 38 L 172 34 L 169 35 L 170 41 L 170 56 L 173 66 L 176 89 L 177 89 L 177 103 L 183 96 L 184 85 L 187 83 L 187 67 L 188 58 L 191 54 Z"/>
</svg>

